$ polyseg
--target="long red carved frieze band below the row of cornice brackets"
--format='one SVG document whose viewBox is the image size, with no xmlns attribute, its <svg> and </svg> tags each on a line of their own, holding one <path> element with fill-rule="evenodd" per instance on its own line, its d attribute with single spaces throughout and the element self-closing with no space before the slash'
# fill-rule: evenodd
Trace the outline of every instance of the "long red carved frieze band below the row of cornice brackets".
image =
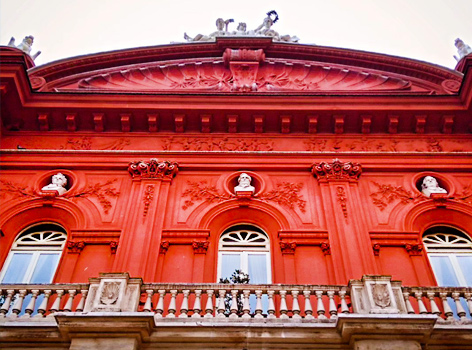
<svg viewBox="0 0 472 350">
<path fill-rule="evenodd" d="M 203 127 L 203 126 L 202 126 Z M 254 117 L 254 130 L 264 130 L 264 118 Z M 156 150 L 196 151 L 196 152 L 315 152 L 315 153 L 457 153 L 472 152 L 470 137 L 450 139 L 447 136 L 434 137 L 350 137 L 350 136 L 312 136 L 290 137 L 281 134 L 277 138 L 238 136 L 237 116 L 228 119 L 231 134 L 221 136 L 198 137 L 173 136 L 156 133 L 155 136 L 110 138 L 103 137 L 54 137 L 53 142 L 45 142 L 47 134 L 28 139 L 4 137 L 2 145 L 11 149 L 56 149 L 56 150 Z M 231 131 L 232 130 L 232 131 Z"/>
</svg>

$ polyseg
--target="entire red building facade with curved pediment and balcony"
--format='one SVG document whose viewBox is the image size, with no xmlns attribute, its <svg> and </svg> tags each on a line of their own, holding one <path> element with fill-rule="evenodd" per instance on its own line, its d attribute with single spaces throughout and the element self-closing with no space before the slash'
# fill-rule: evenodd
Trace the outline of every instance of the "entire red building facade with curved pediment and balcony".
<svg viewBox="0 0 472 350">
<path fill-rule="evenodd" d="M 2 48 L 1 63 L 0 327 L 11 347 L 93 348 L 105 339 L 107 348 L 126 338 L 129 348 L 176 348 L 178 339 L 153 328 L 173 325 L 187 327 L 183 342 L 197 348 L 470 348 L 470 58 L 453 71 L 270 38 L 218 38 L 40 67 Z M 63 194 L 44 189 L 57 173 L 67 180 Z M 242 173 L 253 192 L 235 191 Z M 444 193 L 422 193 L 427 176 Z M 236 268 L 255 284 L 214 285 Z M 369 281 L 388 297 L 366 292 Z M 26 304 L 44 288 L 23 283 L 52 286 L 42 314 L 40 299 L 29 313 Z M 219 336 L 163 321 L 200 310 L 214 327 L 224 314 L 215 296 L 247 288 L 248 303 L 251 294 L 269 304 L 258 312 L 251 301 L 241 312 L 253 319 L 223 323 Z M 105 290 L 117 299 L 103 299 Z M 195 305 L 199 293 L 205 307 Z M 118 307 L 120 298 L 129 303 Z M 449 312 L 446 298 L 459 309 Z M 110 310 L 144 323 L 127 319 L 129 337 L 120 326 L 91 331 L 101 322 L 95 316 L 107 317 L 94 312 Z M 8 328 L 19 332 L 19 319 L 38 312 L 55 322 L 57 339 L 19 340 Z M 271 314 L 279 326 L 266 325 Z M 272 340 L 254 336 L 257 315 Z M 303 334 L 290 328 L 299 317 Z M 374 331 L 382 322 L 394 330 Z M 289 327 L 290 340 L 277 327 Z"/>
</svg>

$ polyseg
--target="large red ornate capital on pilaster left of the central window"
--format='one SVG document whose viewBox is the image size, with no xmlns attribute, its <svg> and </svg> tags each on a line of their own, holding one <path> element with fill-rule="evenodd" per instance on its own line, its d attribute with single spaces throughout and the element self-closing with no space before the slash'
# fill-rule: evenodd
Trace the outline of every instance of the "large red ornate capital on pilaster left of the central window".
<svg viewBox="0 0 472 350">
<path fill-rule="evenodd" d="M 176 162 L 168 160 L 159 161 L 152 158 L 149 162 L 137 161 L 130 162 L 128 165 L 128 172 L 133 179 L 160 179 L 169 180 L 177 175 L 179 165 Z"/>
</svg>

